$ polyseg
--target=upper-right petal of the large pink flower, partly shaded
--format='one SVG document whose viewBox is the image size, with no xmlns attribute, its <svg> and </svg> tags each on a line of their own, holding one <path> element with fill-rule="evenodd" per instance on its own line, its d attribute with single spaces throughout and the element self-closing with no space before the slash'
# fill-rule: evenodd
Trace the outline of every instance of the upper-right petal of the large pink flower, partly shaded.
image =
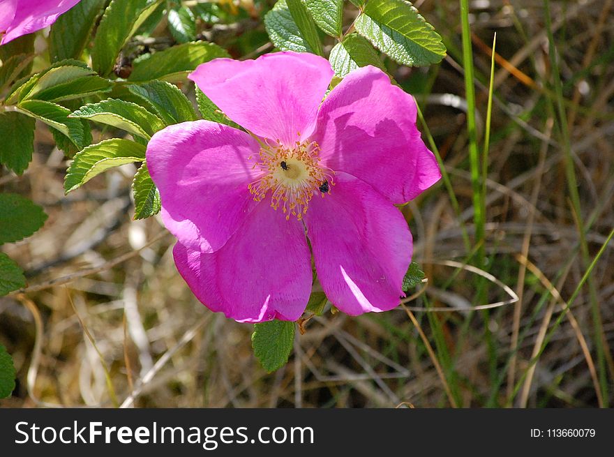
<svg viewBox="0 0 614 457">
<path fill-rule="evenodd" d="M 322 163 L 370 183 L 400 204 L 437 182 L 435 156 L 416 127 L 414 98 L 379 68 L 352 71 L 322 103 L 312 139 Z"/>
</svg>

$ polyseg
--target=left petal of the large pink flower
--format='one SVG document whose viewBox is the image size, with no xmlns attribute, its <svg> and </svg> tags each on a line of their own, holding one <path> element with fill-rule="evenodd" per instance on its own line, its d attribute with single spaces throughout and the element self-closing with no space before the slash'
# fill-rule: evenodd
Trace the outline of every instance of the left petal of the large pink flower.
<svg viewBox="0 0 614 457">
<path fill-rule="evenodd" d="M 147 167 L 158 186 L 162 218 L 181 244 L 211 253 L 221 248 L 257 205 L 248 163 L 260 147 L 247 133 L 210 121 L 178 123 L 147 145 Z"/>
</svg>

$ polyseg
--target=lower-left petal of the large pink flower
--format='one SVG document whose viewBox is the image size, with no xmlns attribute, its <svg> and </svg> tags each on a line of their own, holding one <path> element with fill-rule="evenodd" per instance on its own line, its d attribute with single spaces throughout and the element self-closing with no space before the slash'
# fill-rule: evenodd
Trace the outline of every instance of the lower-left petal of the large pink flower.
<svg viewBox="0 0 614 457">
<path fill-rule="evenodd" d="M 227 244 L 212 254 L 173 249 L 175 264 L 197 299 L 238 322 L 297 320 L 311 292 L 303 226 L 260 203 Z"/>
</svg>

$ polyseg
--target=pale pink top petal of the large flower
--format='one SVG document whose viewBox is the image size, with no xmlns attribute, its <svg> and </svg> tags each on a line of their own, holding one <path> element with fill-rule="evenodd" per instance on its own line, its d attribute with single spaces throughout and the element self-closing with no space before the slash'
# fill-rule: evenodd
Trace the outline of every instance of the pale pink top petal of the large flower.
<svg viewBox="0 0 614 457">
<path fill-rule="evenodd" d="M 322 57 L 276 52 L 255 60 L 214 59 L 190 73 L 230 119 L 286 146 L 312 132 L 333 70 Z"/>
</svg>

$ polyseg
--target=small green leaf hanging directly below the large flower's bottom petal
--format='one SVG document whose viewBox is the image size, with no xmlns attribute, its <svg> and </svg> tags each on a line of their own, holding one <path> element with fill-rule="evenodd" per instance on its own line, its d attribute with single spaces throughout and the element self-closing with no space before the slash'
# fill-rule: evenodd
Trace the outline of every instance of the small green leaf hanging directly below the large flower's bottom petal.
<svg viewBox="0 0 614 457">
<path fill-rule="evenodd" d="M 254 324 L 252 347 L 260 364 L 267 372 L 287 364 L 294 344 L 294 322 L 271 320 Z"/>
</svg>

